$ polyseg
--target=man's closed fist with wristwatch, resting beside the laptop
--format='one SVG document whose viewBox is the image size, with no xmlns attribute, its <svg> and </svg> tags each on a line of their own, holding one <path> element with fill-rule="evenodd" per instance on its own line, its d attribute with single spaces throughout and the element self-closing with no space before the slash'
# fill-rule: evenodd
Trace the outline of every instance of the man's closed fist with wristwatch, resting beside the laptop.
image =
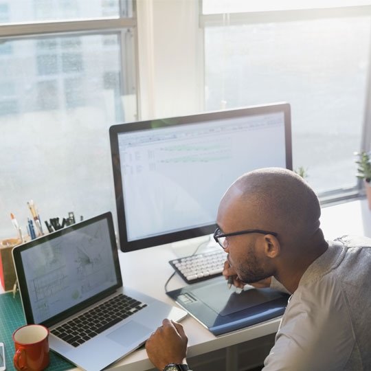
<svg viewBox="0 0 371 371">
<path fill-rule="evenodd" d="M 146 342 L 148 358 L 158 370 L 169 363 L 186 363 L 188 337 L 183 326 L 164 319 Z"/>
</svg>

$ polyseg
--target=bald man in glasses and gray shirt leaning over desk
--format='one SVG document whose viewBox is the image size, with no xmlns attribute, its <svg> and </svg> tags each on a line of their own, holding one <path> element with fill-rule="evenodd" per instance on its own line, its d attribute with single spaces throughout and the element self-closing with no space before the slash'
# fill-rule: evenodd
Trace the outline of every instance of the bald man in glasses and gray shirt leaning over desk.
<svg viewBox="0 0 371 371">
<path fill-rule="evenodd" d="M 214 236 L 228 254 L 225 278 L 292 293 L 264 371 L 371 370 L 371 240 L 326 241 L 320 212 L 308 184 L 279 168 L 238 178 L 219 205 Z M 164 320 L 148 357 L 159 370 L 186 364 L 187 340 Z"/>
</svg>

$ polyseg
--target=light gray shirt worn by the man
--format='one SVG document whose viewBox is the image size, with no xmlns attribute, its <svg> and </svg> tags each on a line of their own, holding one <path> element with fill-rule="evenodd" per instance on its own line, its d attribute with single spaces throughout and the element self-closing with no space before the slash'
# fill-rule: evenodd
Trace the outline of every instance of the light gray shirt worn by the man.
<svg viewBox="0 0 371 371">
<path fill-rule="evenodd" d="M 308 267 L 263 370 L 371 370 L 370 238 L 330 241 Z"/>
</svg>

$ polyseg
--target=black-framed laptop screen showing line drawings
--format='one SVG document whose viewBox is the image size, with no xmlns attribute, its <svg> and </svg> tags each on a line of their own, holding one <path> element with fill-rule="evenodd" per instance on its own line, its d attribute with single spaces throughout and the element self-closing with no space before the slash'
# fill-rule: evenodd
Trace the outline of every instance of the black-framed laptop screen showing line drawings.
<svg viewBox="0 0 371 371">
<path fill-rule="evenodd" d="M 122 285 L 111 213 L 32 240 L 13 254 L 34 323 L 63 319 Z"/>
</svg>

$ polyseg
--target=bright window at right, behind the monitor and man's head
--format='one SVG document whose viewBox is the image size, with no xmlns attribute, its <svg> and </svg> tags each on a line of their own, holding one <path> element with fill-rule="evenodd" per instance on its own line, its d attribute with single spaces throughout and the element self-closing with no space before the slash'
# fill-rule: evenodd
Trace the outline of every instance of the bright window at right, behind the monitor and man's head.
<svg viewBox="0 0 371 371">
<path fill-rule="evenodd" d="M 371 45 L 365 3 L 203 0 L 206 109 L 289 102 L 293 166 L 306 169 L 324 201 L 358 192 L 353 153 L 364 146 Z"/>
</svg>

